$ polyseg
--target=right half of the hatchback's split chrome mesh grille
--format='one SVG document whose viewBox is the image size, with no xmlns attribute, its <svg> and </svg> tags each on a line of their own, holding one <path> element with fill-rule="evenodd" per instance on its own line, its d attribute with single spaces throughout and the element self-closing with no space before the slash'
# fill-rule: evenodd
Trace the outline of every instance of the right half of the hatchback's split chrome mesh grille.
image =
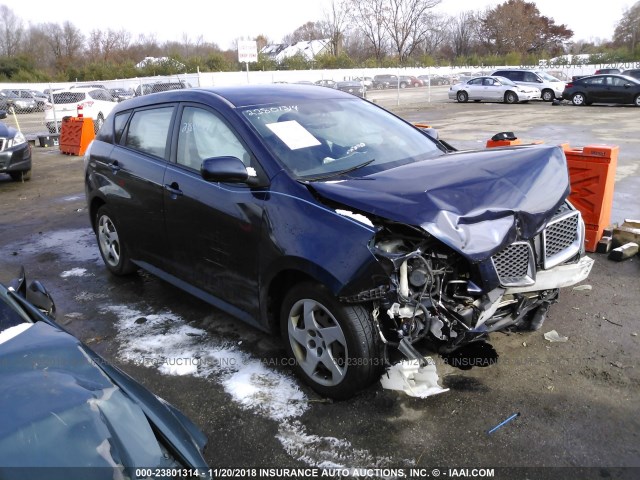
<svg viewBox="0 0 640 480">
<path fill-rule="evenodd" d="M 571 258 L 580 250 L 580 212 L 572 210 L 549 222 L 542 238 L 545 269 Z"/>
</svg>

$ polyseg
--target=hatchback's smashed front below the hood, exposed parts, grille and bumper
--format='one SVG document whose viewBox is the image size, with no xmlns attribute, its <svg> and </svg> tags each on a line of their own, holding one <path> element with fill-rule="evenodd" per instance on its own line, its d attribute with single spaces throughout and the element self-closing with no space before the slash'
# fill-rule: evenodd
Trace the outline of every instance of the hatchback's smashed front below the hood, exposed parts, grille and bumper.
<svg viewBox="0 0 640 480">
<path fill-rule="evenodd" d="M 583 256 L 583 241 L 580 212 L 569 203 L 533 238 L 475 261 L 419 228 L 379 225 L 370 249 L 388 278 L 369 292 L 378 334 L 422 363 L 413 345 L 423 339 L 450 353 L 489 332 L 536 330 L 558 289 L 589 275 L 593 260 Z"/>
</svg>

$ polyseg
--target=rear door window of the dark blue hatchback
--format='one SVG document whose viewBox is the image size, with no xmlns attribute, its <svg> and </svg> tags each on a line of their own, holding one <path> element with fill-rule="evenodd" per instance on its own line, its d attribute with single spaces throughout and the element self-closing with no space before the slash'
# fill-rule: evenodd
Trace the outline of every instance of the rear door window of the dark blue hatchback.
<svg viewBox="0 0 640 480">
<path fill-rule="evenodd" d="M 135 112 L 129 124 L 125 145 L 165 158 L 173 108 L 160 107 Z"/>
</svg>

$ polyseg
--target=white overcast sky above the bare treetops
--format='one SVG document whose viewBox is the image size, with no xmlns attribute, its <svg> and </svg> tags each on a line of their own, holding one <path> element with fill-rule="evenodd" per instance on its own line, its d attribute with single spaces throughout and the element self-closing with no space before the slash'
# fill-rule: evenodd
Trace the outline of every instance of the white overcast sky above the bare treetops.
<svg viewBox="0 0 640 480">
<path fill-rule="evenodd" d="M 484 10 L 504 0 L 442 0 L 438 11 L 455 15 L 464 10 Z M 535 0 L 542 15 L 574 31 L 574 40 L 608 40 L 625 9 L 635 2 L 607 0 L 598 11 L 588 0 Z M 44 0 L 0 0 L 25 26 L 70 21 L 85 34 L 93 29 L 125 30 L 133 35 L 154 35 L 166 40 L 192 41 L 200 36 L 222 49 L 232 48 L 238 38 L 259 34 L 278 42 L 308 21 L 324 18 L 331 0 L 213 0 L 209 2 L 108 0 L 99 4 Z M 99 14 L 92 14 L 99 12 Z"/>
</svg>

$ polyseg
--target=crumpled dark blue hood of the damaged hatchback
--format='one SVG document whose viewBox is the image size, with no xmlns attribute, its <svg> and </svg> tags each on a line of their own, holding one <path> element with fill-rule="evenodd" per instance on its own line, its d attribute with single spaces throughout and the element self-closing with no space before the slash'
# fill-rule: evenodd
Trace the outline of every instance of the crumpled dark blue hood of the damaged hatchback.
<svg viewBox="0 0 640 480">
<path fill-rule="evenodd" d="M 421 227 L 472 261 L 533 237 L 570 191 L 564 152 L 549 145 L 451 153 L 309 186 L 360 212 Z"/>
</svg>

